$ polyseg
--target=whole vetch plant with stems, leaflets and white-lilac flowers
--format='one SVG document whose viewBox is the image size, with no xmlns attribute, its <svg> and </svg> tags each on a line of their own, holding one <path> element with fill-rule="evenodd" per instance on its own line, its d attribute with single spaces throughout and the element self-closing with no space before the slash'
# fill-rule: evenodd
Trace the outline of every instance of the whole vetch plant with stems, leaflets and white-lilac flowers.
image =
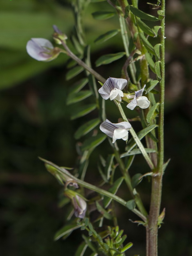
<svg viewBox="0 0 192 256">
<path fill-rule="evenodd" d="M 136 0 L 129 3 L 127 0 L 108 0 L 106 4 L 111 11 L 101 10 L 92 13 L 92 17 L 96 20 L 105 20 L 116 15 L 120 24 L 119 29 L 106 31 L 94 40 L 95 43 L 101 44 L 120 34 L 124 45 L 122 52 L 106 54 L 96 60 L 96 67 L 98 67 L 126 56 L 123 67 L 118 66 L 119 77 L 109 77 L 107 80 L 92 68 L 90 46 L 85 41 L 82 18 L 87 4 L 91 4 L 88 2 L 90 1 L 72 1 L 76 29 L 70 43 L 73 44 L 77 54 L 74 54 L 68 46 L 70 39 L 55 25 L 53 39 L 61 48 L 53 47 L 52 43 L 43 38 L 33 38 L 27 44 L 28 54 L 36 60 L 50 61 L 60 52 L 66 53 L 73 60 L 66 74 L 67 80 L 85 71 L 84 77 L 72 86 L 66 103 L 68 105 L 78 104 L 79 101 L 84 103 L 74 108 L 71 120 L 81 118 L 92 111 L 97 116 L 81 125 L 74 134 L 76 140 L 81 140 L 81 143 L 77 143 L 78 156 L 74 169 L 59 167 L 40 158 L 47 170 L 63 186 L 65 197 L 60 205 L 67 207 L 71 202 L 73 206 L 66 225 L 56 233 L 55 240 L 60 237 L 66 238 L 73 230 L 80 228 L 87 233 L 82 235 L 83 242 L 74 255 L 83 256 L 86 248 L 89 247 L 92 251 L 91 255 L 124 256 L 126 250 L 134 246 L 134 241 L 124 244 L 126 235 L 123 235 L 123 230 L 119 230 L 115 212 L 116 203 L 119 203 L 125 207 L 127 215 L 132 211 L 139 218 L 133 222 L 143 225 L 146 229 L 146 255 L 157 256 L 158 228 L 163 223 L 165 215 L 165 209 L 160 212 L 162 179 L 169 163 L 169 160 L 164 163 L 165 0 L 158 0 L 156 4 L 152 4 L 156 7 L 156 16 L 138 9 Z M 100 0 L 93 2 L 99 3 Z M 157 37 L 157 44 L 152 45 L 150 37 Z M 156 74 L 156 80 L 150 77 L 149 68 Z M 113 76 L 113 70 L 111 74 Z M 155 89 L 158 83 L 159 91 Z M 99 88 L 100 85 L 102 85 L 101 88 Z M 144 89 L 147 96 L 143 96 Z M 134 92 L 135 95 L 133 95 Z M 89 97 L 92 98 L 87 104 L 84 99 Z M 113 100 L 111 104 L 115 103 L 117 107 L 114 114 L 118 114 L 121 118 L 119 123 L 113 124 L 106 119 L 108 108 L 105 108 L 105 102 L 108 99 Z M 126 104 L 128 102 L 127 108 L 124 102 Z M 140 107 L 137 109 L 137 116 L 130 119 L 130 110 L 136 106 Z M 140 121 L 142 126 L 138 133 L 134 131 L 134 121 Z M 129 140 L 128 133 L 131 135 Z M 113 140 L 111 141 L 108 137 Z M 100 149 L 99 145 L 106 138 L 108 138 L 110 151 L 100 155 L 97 169 L 101 182 L 99 186 L 93 185 L 85 181 L 86 173 L 92 171 L 89 168 L 89 156 L 95 154 L 95 148 Z M 125 141 L 124 150 L 118 148 L 119 142 L 116 140 L 119 139 Z M 134 158 L 137 159 L 138 154 L 144 157 L 146 168 L 149 170 L 143 173 L 142 167 L 139 172 L 131 176 L 129 169 L 131 166 L 134 167 Z M 68 169 L 71 171 L 69 172 Z M 115 175 L 117 172 L 119 173 Z M 138 184 L 142 183 L 146 176 L 151 177 L 149 211 L 146 210 L 137 192 Z M 122 182 L 125 182 L 127 187 L 124 194 L 129 193 L 132 197 L 129 201 L 116 195 L 121 189 Z M 102 188 L 104 184 L 108 190 Z M 97 196 L 89 196 L 89 200 L 86 199 L 87 190 L 84 188 L 96 192 Z M 91 218 L 91 209 L 95 209 L 99 217 Z M 106 220 L 110 223 L 108 228 L 105 226 Z M 127 222 L 124 223 L 129 225 Z"/>
</svg>

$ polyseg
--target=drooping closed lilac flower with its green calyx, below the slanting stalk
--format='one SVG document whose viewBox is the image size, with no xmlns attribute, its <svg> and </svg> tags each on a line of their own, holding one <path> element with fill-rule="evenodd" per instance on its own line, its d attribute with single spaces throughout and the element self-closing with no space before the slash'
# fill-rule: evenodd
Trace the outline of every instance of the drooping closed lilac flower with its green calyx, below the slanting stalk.
<svg viewBox="0 0 192 256">
<path fill-rule="evenodd" d="M 66 189 L 64 195 L 71 199 L 76 217 L 83 219 L 87 210 L 84 198 L 73 190 Z"/>
</svg>

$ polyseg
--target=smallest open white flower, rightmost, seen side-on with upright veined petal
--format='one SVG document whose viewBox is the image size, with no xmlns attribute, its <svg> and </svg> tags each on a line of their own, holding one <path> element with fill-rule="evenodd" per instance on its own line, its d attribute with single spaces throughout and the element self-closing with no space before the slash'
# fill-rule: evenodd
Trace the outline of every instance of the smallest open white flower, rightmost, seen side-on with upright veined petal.
<svg viewBox="0 0 192 256">
<path fill-rule="evenodd" d="M 131 110 L 133 110 L 136 106 L 139 106 L 140 108 L 148 108 L 150 101 L 147 97 L 142 96 L 145 86 L 146 85 L 144 85 L 143 89 L 135 92 L 135 96 L 133 100 L 127 105 L 127 108 Z"/>
</svg>

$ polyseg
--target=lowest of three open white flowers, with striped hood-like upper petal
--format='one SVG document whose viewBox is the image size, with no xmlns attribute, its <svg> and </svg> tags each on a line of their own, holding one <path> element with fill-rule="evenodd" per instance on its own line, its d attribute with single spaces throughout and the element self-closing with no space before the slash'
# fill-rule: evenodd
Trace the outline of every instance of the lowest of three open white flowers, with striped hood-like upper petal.
<svg viewBox="0 0 192 256">
<path fill-rule="evenodd" d="M 131 129 L 131 124 L 128 122 L 113 124 L 108 119 L 100 125 L 100 130 L 110 138 L 113 138 L 113 143 L 115 143 L 117 139 L 127 140 L 129 129 Z"/>
</svg>

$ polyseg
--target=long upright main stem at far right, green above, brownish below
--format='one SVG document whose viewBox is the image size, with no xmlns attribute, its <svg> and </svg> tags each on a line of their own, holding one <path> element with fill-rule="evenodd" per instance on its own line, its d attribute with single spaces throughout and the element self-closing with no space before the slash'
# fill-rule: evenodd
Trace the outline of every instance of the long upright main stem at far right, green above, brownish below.
<svg viewBox="0 0 192 256">
<path fill-rule="evenodd" d="M 165 14 L 165 0 L 161 1 L 161 10 Z M 158 163 L 157 170 L 152 178 L 151 203 L 149 211 L 149 221 L 147 227 L 147 256 L 157 256 L 157 236 L 158 236 L 158 217 L 161 205 L 162 178 L 164 165 L 164 83 L 165 83 L 165 19 L 161 20 L 161 82 L 160 82 L 160 108 L 159 108 L 159 127 L 158 127 Z"/>
</svg>

